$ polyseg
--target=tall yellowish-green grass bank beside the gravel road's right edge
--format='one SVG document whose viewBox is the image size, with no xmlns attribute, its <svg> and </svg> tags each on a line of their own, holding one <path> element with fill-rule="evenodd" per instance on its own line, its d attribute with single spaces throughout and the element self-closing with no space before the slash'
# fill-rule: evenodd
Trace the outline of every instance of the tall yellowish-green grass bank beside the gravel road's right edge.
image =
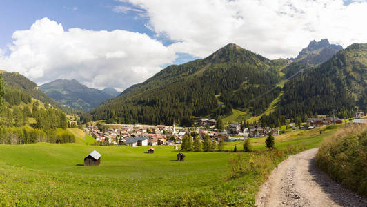
<svg viewBox="0 0 367 207">
<path fill-rule="evenodd" d="M 332 179 L 367 196 L 367 126 L 350 126 L 325 139 L 317 165 Z"/>
</svg>

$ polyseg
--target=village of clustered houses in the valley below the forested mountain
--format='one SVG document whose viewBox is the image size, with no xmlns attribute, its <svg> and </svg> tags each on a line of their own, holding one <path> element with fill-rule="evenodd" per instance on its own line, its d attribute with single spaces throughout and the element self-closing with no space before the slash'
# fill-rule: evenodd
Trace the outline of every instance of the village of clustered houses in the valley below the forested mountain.
<svg viewBox="0 0 367 207">
<path fill-rule="evenodd" d="M 363 112 L 356 113 L 353 123 L 363 124 L 366 119 L 358 119 L 364 117 Z M 321 117 L 308 118 L 306 123 L 299 128 L 295 123 L 290 123 L 290 130 L 311 130 L 313 128 L 328 126 L 331 124 L 343 124 L 344 121 L 337 117 Z M 157 146 L 168 145 L 177 146 L 182 143 L 185 135 L 194 137 L 199 136 L 204 139 L 208 135 L 211 139 L 219 141 L 235 141 L 246 139 L 248 137 L 266 137 L 268 135 L 277 136 L 282 133 L 279 128 L 270 128 L 261 126 L 261 124 L 250 124 L 248 127 L 241 127 L 241 124 L 228 124 L 225 130 L 219 131 L 217 121 L 210 118 L 195 119 L 194 127 L 179 127 L 165 125 L 143 125 L 143 124 L 106 124 L 103 128 L 95 125 L 86 126 L 83 130 L 95 137 L 97 144 L 100 145 L 121 145 L 126 146 Z"/>
</svg>

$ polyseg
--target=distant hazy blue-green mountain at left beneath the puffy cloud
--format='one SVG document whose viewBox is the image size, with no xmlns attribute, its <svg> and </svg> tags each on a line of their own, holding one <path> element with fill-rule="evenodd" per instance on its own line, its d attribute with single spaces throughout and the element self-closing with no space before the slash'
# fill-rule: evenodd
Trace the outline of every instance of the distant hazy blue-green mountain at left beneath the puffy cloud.
<svg viewBox="0 0 367 207">
<path fill-rule="evenodd" d="M 96 108 L 102 101 L 112 97 L 95 88 L 88 88 L 75 79 L 57 79 L 39 86 L 39 89 L 55 101 L 84 112 Z"/>
</svg>

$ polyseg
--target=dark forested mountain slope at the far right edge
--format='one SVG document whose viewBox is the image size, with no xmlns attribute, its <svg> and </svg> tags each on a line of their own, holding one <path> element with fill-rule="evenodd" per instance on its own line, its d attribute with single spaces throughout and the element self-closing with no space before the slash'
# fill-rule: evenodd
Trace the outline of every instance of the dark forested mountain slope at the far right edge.
<svg viewBox="0 0 367 207">
<path fill-rule="evenodd" d="M 367 110 L 367 43 L 340 50 L 284 85 L 281 114 L 311 117 L 335 110 L 341 118 Z"/>
</svg>

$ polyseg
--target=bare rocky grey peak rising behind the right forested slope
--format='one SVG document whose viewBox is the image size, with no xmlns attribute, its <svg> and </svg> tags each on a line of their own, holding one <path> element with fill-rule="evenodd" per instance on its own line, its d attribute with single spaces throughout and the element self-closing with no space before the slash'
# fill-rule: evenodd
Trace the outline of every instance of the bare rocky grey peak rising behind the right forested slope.
<svg viewBox="0 0 367 207">
<path fill-rule="evenodd" d="M 310 66 L 316 66 L 320 63 L 324 63 L 333 57 L 333 55 L 335 55 L 339 50 L 343 50 L 343 47 L 330 44 L 328 39 L 310 41 L 308 46 L 303 48 L 296 58 L 290 59 L 293 63 L 284 68 L 282 72 L 286 74 L 286 77 L 290 77 L 301 68 L 309 68 Z"/>
</svg>

